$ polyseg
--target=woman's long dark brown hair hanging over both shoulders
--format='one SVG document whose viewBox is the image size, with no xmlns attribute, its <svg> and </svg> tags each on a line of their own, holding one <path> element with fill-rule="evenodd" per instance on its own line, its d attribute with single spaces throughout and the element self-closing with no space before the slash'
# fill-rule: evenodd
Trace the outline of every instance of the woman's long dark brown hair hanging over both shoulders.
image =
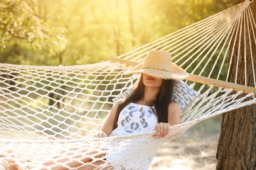
<svg viewBox="0 0 256 170">
<path fill-rule="evenodd" d="M 163 83 L 161 85 L 160 92 L 158 93 L 156 100 L 150 103 L 151 108 L 155 107 L 156 112 L 154 112 L 154 114 L 156 114 L 156 116 L 158 117 L 158 122 L 164 122 L 164 123 L 168 122 L 168 106 L 172 102 L 172 97 L 173 97 L 173 80 L 163 79 Z M 131 95 L 129 95 L 129 97 L 127 97 L 127 99 L 125 99 L 125 101 L 118 106 L 114 129 L 116 129 L 117 127 L 117 120 L 121 110 L 123 110 L 123 108 L 129 105 L 129 103 L 136 103 L 137 101 L 140 101 L 143 98 L 144 98 L 144 84 L 143 84 L 143 78 L 141 75 L 137 88 L 135 88 L 133 93 L 131 93 Z"/>
</svg>

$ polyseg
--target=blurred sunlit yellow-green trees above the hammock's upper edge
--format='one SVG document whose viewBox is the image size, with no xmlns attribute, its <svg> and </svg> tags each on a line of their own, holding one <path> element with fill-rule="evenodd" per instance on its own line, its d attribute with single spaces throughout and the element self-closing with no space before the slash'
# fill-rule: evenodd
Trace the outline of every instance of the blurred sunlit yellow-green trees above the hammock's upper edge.
<svg viewBox="0 0 256 170">
<path fill-rule="evenodd" d="M 3 0 L 0 63 L 98 63 L 233 5 L 231 0 Z"/>
</svg>

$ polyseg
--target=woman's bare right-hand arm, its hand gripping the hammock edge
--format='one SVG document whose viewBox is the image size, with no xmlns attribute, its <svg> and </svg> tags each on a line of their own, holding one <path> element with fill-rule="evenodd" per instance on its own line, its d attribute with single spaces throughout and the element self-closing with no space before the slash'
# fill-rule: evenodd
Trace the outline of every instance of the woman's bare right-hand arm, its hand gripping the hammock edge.
<svg viewBox="0 0 256 170">
<path fill-rule="evenodd" d="M 159 137 L 167 135 L 170 126 L 181 124 L 181 109 L 177 103 L 170 103 L 168 106 L 168 123 L 156 124 L 156 134 Z"/>
</svg>

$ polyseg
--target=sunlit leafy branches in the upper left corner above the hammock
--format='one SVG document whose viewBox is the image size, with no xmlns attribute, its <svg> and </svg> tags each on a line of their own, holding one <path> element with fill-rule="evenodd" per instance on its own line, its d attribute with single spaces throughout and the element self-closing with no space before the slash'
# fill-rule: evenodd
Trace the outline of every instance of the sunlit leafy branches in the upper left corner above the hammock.
<svg viewBox="0 0 256 170">
<path fill-rule="evenodd" d="M 56 65 L 65 49 L 64 28 L 51 27 L 36 16 L 28 1 L 0 2 L 0 62 Z"/>
</svg>

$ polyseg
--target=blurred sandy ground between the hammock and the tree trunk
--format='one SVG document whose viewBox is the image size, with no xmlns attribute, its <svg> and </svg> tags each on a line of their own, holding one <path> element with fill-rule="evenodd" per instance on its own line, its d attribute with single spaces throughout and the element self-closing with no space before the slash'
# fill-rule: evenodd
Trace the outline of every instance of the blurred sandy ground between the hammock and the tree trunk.
<svg viewBox="0 0 256 170">
<path fill-rule="evenodd" d="M 178 139 L 164 143 L 154 157 L 150 170 L 216 169 L 221 118 L 217 116 L 204 120 Z"/>
</svg>

